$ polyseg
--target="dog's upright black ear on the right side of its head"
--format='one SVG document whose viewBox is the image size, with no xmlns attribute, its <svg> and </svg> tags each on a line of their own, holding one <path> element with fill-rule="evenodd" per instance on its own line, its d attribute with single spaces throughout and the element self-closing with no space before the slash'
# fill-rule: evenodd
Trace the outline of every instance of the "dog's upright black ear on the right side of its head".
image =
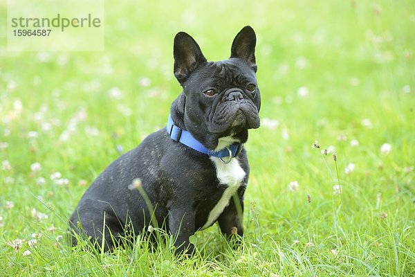
<svg viewBox="0 0 415 277">
<path fill-rule="evenodd" d="M 255 35 L 254 29 L 251 26 L 243 27 L 232 42 L 230 57 L 238 57 L 257 72 L 255 44 L 257 44 L 257 36 Z"/>
</svg>

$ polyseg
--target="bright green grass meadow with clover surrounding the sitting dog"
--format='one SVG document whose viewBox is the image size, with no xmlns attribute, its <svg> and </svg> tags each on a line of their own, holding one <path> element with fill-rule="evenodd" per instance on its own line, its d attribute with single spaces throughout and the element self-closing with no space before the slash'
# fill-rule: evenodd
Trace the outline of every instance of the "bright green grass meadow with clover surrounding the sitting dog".
<svg viewBox="0 0 415 277">
<path fill-rule="evenodd" d="M 0 275 L 415 275 L 412 1 L 107 2 L 105 12 L 104 52 L 7 52 L 0 26 Z M 180 92 L 175 33 L 221 60 L 248 24 L 262 127 L 246 144 L 243 248 L 216 226 L 192 238 L 192 258 L 175 257 L 168 237 L 111 255 L 68 247 L 86 187 L 165 125 Z M 320 152 L 330 145 L 336 162 Z"/>
</svg>

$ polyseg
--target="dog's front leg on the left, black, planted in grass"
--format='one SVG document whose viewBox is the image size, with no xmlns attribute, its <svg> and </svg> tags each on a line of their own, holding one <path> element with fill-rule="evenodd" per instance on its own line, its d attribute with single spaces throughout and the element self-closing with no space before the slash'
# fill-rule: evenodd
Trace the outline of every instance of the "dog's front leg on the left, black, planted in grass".
<svg viewBox="0 0 415 277">
<path fill-rule="evenodd" d="M 176 239 L 176 253 L 186 252 L 192 255 L 194 251 L 194 245 L 189 242 L 195 231 L 194 216 L 193 209 L 185 204 L 169 208 L 169 230 Z"/>
</svg>

